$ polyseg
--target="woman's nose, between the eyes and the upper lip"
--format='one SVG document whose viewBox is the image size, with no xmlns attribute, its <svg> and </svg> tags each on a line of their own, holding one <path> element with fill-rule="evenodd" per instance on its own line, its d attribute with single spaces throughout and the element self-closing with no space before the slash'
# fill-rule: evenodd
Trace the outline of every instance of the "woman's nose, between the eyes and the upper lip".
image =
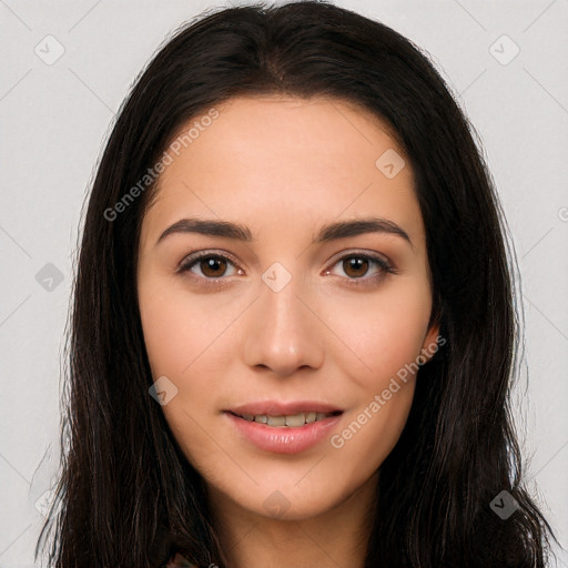
<svg viewBox="0 0 568 568">
<path fill-rule="evenodd" d="M 260 286 L 260 296 L 245 320 L 244 361 L 285 377 L 324 361 L 325 325 L 317 306 L 297 290 L 292 278 L 282 290 Z M 300 292 L 300 293 L 298 293 Z"/>
</svg>

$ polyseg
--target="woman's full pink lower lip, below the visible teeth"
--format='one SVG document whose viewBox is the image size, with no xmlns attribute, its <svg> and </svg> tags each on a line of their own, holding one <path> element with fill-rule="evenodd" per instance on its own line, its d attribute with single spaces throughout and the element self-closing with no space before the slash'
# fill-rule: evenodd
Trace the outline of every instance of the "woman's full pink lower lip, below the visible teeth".
<svg viewBox="0 0 568 568">
<path fill-rule="evenodd" d="M 298 427 L 266 426 L 250 422 L 231 413 L 223 413 L 236 428 L 237 433 L 265 452 L 277 454 L 300 454 L 321 442 L 339 422 L 342 414 L 329 416 Z"/>
</svg>

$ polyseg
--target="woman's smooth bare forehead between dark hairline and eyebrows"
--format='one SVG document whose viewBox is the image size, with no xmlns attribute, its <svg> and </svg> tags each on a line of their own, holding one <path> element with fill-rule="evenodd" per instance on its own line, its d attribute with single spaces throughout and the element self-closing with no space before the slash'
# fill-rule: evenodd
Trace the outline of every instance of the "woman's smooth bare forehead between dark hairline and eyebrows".
<svg viewBox="0 0 568 568">
<path fill-rule="evenodd" d="M 214 108 L 217 118 L 194 129 L 178 154 L 170 152 L 145 225 L 163 227 L 187 213 L 253 227 L 278 219 L 281 230 L 304 231 L 318 220 L 371 212 L 422 230 L 409 161 L 369 111 L 337 99 L 270 95 Z M 196 122 L 200 116 L 172 140 Z M 385 155 L 398 160 L 397 168 L 404 163 L 395 176 L 382 170 Z"/>
</svg>

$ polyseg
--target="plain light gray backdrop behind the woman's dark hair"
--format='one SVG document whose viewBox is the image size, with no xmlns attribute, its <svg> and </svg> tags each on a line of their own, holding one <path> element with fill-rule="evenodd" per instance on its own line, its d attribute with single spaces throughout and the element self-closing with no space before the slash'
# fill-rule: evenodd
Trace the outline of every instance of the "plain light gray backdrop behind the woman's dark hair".
<svg viewBox="0 0 568 568">
<path fill-rule="evenodd" d="M 114 114 L 175 28 L 240 3 L 0 0 L 0 568 L 33 566 L 81 206 Z M 426 50 L 483 140 L 523 278 L 525 477 L 567 547 L 568 0 L 336 3 Z"/>
</svg>

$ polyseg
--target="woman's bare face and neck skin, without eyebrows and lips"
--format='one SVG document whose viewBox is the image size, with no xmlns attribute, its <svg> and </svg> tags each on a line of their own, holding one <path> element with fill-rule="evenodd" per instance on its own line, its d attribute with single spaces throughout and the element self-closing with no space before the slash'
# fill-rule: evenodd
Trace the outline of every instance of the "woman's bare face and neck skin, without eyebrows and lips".
<svg viewBox="0 0 568 568">
<path fill-rule="evenodd" d="M 375 166 L 386 150 L 403 151 L 353 103 L 243 97 L 216 109 L 220 116 L 160 176 L 141 230 L 148 356 L 154 381 L 166 376 L 178 388 L 162 409 L 206 481 L 231 567 L 363 567 L 378 468 L 406 423 L 415 377 L 399 382 L 343 447 L 329 436 L 405 364 L 429 354 L 438 335 L 428 328 L 430 277 L 412 169 L 406 161 L 388 179 Z M 412 244 L 387 233 L 312 244 L 322 225 L 369 215 L 399 225 Z M 156 244 L 189 216 L 247 225 L 255 241 L 173 233 Z M 216 272 L 200 261 L 176 272 L 204 250 L 234 261 L 221 260 Z M 343 262 L 357 253 L 381 255 L 396 273 Z M 278 292 L 262 280 L 274 262 L 292 276 Z M 275 454 L 237 436 L 222 414 L 266 399 L 322 400 L 344 414 L 316 446 Z M 280 510 L 263 505 L 275 491 Z"/>
</svg>

